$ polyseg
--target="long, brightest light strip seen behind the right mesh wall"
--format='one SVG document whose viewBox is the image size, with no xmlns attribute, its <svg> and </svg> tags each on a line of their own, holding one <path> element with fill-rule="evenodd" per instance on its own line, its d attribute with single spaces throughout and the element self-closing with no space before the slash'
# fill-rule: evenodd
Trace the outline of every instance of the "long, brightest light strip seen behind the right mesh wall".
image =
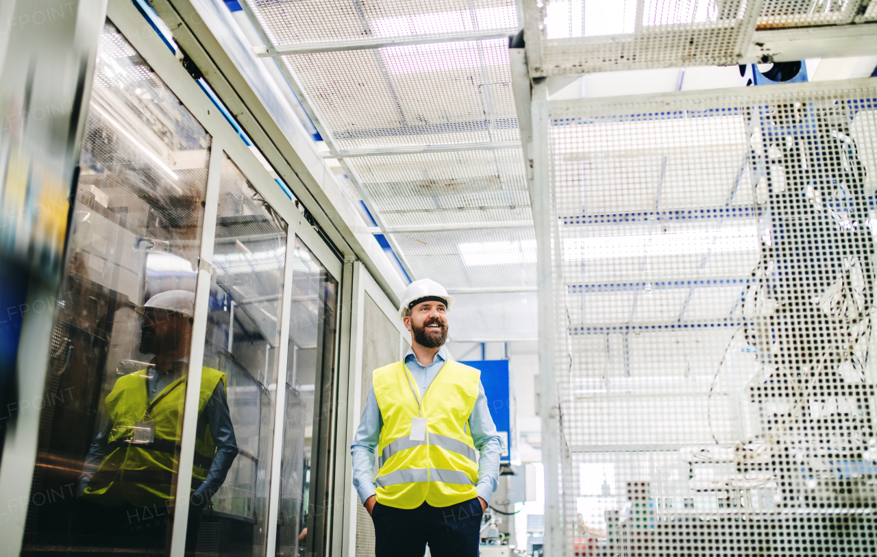
<svg viewBox="0 0 877 557">
<path fill-rule="evenodd" d="M 644 255 L 705 254 L 707 251 L 742 252 L 758 249 L 757 238 L 757 226 L 567 238 L 563 240 L 563 259 L 583 261 Z"/>
</svg>

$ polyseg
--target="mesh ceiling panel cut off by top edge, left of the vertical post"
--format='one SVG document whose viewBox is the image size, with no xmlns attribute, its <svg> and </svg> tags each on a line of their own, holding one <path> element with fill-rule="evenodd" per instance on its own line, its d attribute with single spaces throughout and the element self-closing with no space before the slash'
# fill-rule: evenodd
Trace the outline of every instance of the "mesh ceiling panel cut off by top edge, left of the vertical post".
<svg viewBox="0 0 877 557">
<path fill-rule="evenodd" d="M 514 0 L 248 0 L 275 45 L 410 38 L 436 42 L 460 33 L 517 28 Z"/>
</svg>

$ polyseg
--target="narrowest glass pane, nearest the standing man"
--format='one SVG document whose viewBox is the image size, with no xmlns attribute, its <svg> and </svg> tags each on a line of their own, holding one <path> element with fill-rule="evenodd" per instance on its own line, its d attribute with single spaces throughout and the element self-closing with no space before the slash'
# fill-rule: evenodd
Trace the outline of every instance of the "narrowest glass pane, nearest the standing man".
<svg viewBox="0 0 877 557">
<path fill-rule="evenodd" d="M 309 546 L 309 554 L 316 554 L 318 540 L 308 539 L 309 530 L 311 537 L 314 531 L 317 536 L 324 532 L 325 513 L 313 511 L 314 503 L 321 502 L 310 501 L 310 475 L 314 447 L 319 448 L 314 432 L 324 425 L 321 419 L 330 419 L 330 409 L 320 413 L 315 400 L 332 393 L 338 282 L 297 238 L 292 265 L 276 554 L 298 557 Z"/>
</svg>

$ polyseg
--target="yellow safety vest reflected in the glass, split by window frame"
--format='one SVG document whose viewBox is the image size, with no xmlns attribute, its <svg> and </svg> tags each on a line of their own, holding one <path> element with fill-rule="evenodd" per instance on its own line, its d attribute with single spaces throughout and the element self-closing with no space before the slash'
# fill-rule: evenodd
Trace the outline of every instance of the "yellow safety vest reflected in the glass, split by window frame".
<svg viewBox="0 0 877 557">
<path fill-rule="evenodd" d="M 210 425 L 203 410 L 217 384 L 222 382 L 225 388 L 225 374 L 221 371 L 202 368 L 201 373 L 192 490 L 207 477 L 216 453 Z M 171 493 L 179 462 L 186 376 L 162 389 L 152 403 L 146 389 L 146 373 L 140 370 L 119 377 L 107 395 L 107 414 L 113 425 L 110 438 L 107 439 L 109 452 L 82 494 L 87 499 L 108 506 L 126 502 L 145 506 L 173 498 Z M 148 445 L 129 443 L 134 424 L 144 420 L 146 411 L 149 412 L 148 419 L 155 423 L 155 440 Z"/>
</svg>

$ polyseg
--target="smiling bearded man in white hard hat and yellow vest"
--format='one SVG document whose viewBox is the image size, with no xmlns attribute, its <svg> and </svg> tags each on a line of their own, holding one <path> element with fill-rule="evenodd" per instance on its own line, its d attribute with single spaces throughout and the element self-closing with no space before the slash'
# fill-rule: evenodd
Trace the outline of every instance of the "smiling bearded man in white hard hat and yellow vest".
<svg viewBox="0 0 877 557">
<path fill-rule="evenodd" d="M 353 484 L 374 522 L 377 557 L 423 557 L 427 545 L 433 557 L 478 555 L 500 441 L 479 370 L 449 360 L 442 347 L 452 304 L 429 279 L 405 289 L 399 318 L 411 348 L 374 370 L 353 438 Z"/>
</svg>

